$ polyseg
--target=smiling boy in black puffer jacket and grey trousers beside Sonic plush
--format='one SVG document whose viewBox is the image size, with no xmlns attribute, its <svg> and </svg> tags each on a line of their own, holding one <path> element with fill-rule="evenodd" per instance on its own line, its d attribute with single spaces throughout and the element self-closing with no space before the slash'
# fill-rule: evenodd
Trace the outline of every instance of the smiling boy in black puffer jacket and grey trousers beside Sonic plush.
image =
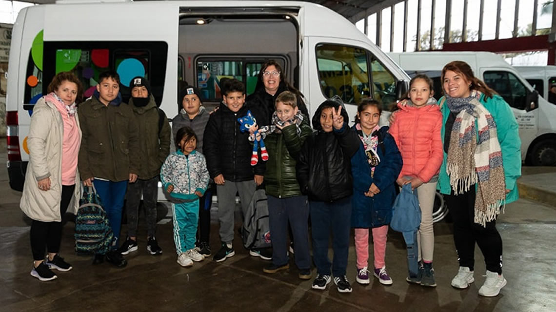
<svg viewBox="0 0 556 312">
<path fill-rule="evenodd" d="M 234 210 L 236 192 L 240 195 L 241 209 L 247 211 L 257 185 L 261 185 L 265 174 L 263 162 L 251 166 L 253 147 L 249 132 L 240 131 L 237 118 L 247 115 L 245 86 L 236 79 L 230 80 L 225 89 L 224 100 L 219 109 L 212 113 L 205 128 L 203 153 L 211 179 L 216 184 L 218 194 L 218 219 L 222 247 L 214 260 L 224 261 L 234 256 Z M 270 260 L 267 250 L 251 250 L 250 255 Z"/>
</svg>

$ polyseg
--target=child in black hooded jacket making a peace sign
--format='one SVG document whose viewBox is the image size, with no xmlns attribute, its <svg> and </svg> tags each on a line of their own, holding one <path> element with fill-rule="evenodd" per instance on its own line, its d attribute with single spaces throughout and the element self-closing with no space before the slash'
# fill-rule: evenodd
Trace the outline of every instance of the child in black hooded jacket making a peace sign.
<svg viewBox="0 0 556 312">
<path fill-rule="evenodd" d="M 307 138 L 297 161 L 301 192 L 309 196 L 312 247 L 317 276 L 313 289 L 326 289 L 330 266 L 340 293 L 351 293 L 346 279 L 347 252 L 351 225 L 351 157 L 361 142 L 350 131 L 347 112 L 340 97 L 324 101 L 312 118 L 317 131 Z M 328 239 L 332 231 L 334 263 L 328 259 Z"/>
</svg>

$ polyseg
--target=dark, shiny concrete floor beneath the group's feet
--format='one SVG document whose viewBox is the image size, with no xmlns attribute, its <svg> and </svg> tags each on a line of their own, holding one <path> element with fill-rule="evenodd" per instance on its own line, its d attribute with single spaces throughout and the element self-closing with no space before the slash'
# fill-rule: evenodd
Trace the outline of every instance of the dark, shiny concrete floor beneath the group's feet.
<svg viewBox="0 0 556 312">
<path fill-rule="evenodd" d="M 4 144 L 0 146 L 1 161 L 6 160 Z M 405 282 L 405 247 L 397 232 L 390 232 L 386 251 L 394 284 L 383 286 L 376 280 L 368 286 L 355 283 L 352 244 L 347 277 L 353 282 L 353 293 L 340 294 L 333 284 L 325 291 L 311 290 L 312 281 L 297 278 L 293 261 L 287 271 L 262 273 L 268 262 L 249 256 L 239 238 L 234 242 L 236 256 L 223 263 L 206 259 L 192 268 L 181 268 L 167 219 L 158 225 L 163 254 L 148 255 L 140 237 L 140 249 L 126 256 L 124 269 L 109 264 L 92 266 L 90 257 L 77 256 L 73 223 L 67 222 L 62 256 L 73 270 L 43 283 L 29 275 L 29 220 L 18 208 L 21 193 L 9 189 L 6 169 L 0 170 L 0 188 L 4 190 L 0 196 L 0 311 L 556 311 L 556 208 L 525 199 L 507 205 L 499 218 L 508 285 L 498 297 L 483 298 L 478 289 L 485 268 L 478 248 L 475 283 L 466 290 L 450 286 L 458 263 L 451 225 L 446 222 L 435 224 L 436 288 Z M 163 215 L 166 211 L 161 208 Z M 144 224 L 141 221 L 142 233 Z M 213 250 L 219 247 L 217 228 L 214 224 L 211 231 Z M 123 226 L 122 233 L 125 231 Z"/>
</svg>

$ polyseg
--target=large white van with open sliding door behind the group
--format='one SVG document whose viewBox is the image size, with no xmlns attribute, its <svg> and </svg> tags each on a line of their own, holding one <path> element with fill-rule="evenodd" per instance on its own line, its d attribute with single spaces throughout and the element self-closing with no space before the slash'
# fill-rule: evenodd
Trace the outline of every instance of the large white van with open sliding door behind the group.
<svg viewBox="0 0 556 312">
<path fill-rule="evenodd" d="M 90 93 L 98 74 L 114 69 L 125 100 L 128 81 L 144 75 L 157 104 L 173 117 L 185 81 L 201 88 L 205 105 L 215 105 L 220 78 L 242 80 L 250 93 L 270 59 L 281 62 L 311 115 L 335 94 L 349 103 L 350 118 L 369 95 L 388 106 L 409 81 L 354 24 L 315 3 L 64 0 L 24 8 L 13 27 L 8 68 L 10 185 L 22 189 L 33 103 L 59 71 L 75 72 Z"/>
</svg>

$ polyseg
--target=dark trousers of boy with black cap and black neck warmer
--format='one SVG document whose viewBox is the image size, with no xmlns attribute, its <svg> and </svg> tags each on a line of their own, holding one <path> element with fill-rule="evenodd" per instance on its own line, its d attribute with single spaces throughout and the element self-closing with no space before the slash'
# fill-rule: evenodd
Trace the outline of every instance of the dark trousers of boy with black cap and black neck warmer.
<svg viewBox="0 0 556 312">
<path fill-rule="evenodd" d="M 156 234 L 156 200 L 158 197 L 158 176 L 148 180 L 137 179 L 135 183 L 127 185 L 127 236 L 137 236 L 137 223 L 139 221 L 139 202 L 143 194 L 143 209 L 147 220 L 147 236 Z"/>
</svg>

